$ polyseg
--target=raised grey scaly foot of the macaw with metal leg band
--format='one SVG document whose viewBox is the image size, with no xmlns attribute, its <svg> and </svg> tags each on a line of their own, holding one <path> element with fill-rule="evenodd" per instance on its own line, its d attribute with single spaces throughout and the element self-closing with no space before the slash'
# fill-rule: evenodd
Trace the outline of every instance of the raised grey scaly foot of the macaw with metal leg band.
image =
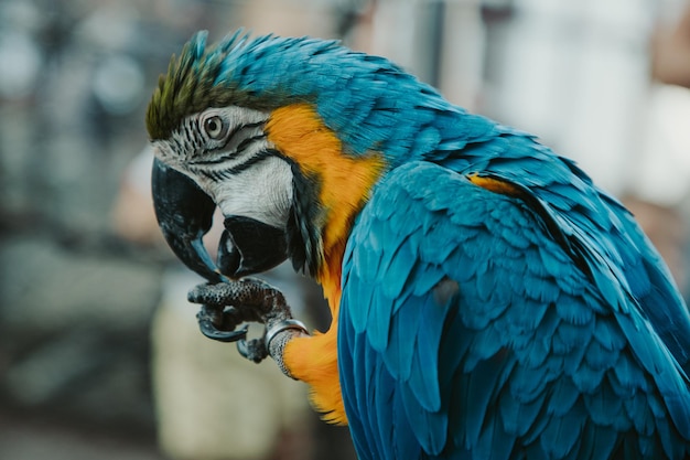
<svg viewBox="0 0 690 460">
<path fill-rule="evenodd" d="M 244 357 L 260 363 L 271 356 L 281 371 L 292 377 L 283 363 L 285 344 L 294 336 L 309 335 L 306 327 L 292 318 L 282 292 L 258 278 L 242 278 L 198 285 L 187 295 L 201 303 L 196 314 L 204 335 L 220 342 L 237 342 Z M 260 339 L 247 340 L 246 322 L 260 322 L 266 330 Z"/>
</svg>

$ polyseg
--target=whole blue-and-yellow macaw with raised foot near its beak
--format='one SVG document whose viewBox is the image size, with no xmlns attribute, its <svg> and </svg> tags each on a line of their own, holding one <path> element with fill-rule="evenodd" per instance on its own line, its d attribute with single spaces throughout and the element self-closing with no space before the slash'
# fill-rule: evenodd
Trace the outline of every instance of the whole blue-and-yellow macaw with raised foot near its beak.
<svg viewBox="0 0 690 460">
<path fill-rule="evenodd" d="M 194 35 L 147 127 L 161 228 L 209 281 L 190 292 L 202 329 L 308 383 L 360 459 L 690 457 L 690 318 L 668 269 L 533 136 L 385 58 L 242 32 Z M 285 259 L 323 287 L 327 332 L 249 277 Z"/>
</svg>

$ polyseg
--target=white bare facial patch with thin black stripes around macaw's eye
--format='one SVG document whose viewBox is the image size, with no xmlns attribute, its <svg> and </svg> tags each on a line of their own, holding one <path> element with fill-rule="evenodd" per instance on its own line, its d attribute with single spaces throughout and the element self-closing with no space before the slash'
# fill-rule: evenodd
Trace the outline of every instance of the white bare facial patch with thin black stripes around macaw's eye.
<svg viewBox="0 0 690 460">
<path fill-rule="evenodd" d="M 188 116 L 169 139 L 152 147 L 161 161 L 192 178 L 225 216 L 284 229 L 293 178 L 290 164 L 271 153 L 273 146 L 263 132 L 267 118 L 244 107 L 211 108 Z M 205 124 L 209 119 L 212 125 Z"/>
</svg>

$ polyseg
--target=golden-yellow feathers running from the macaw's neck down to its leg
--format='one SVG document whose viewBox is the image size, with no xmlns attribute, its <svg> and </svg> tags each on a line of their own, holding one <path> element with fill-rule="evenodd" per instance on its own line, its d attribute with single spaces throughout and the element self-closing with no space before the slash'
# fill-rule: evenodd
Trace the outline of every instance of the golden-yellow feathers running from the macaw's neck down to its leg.
<svg viewBox="0 0 690 460">
<path fill-rule="evenodd" d="M 323 226 L 323 260 L 315 278 L 323 287 L 333 315 L 327 332 L 293 339 L 288 344 L 285 364 L 293 376 L 310 384 L 312 403 L 326 414 L 325 418 L 345 424 L 336 356 L 343 255 L 353 221 L 380 176 L 385 160 L 378 153 L 344 154 L 341 140 L 308 104 L 274 110 L 266 131 L 268 140 L 294 160 L 305 176 L 316 176 L 321 182 L 319 200 L 323 216 L 315 224 Z"/>
</svg>

